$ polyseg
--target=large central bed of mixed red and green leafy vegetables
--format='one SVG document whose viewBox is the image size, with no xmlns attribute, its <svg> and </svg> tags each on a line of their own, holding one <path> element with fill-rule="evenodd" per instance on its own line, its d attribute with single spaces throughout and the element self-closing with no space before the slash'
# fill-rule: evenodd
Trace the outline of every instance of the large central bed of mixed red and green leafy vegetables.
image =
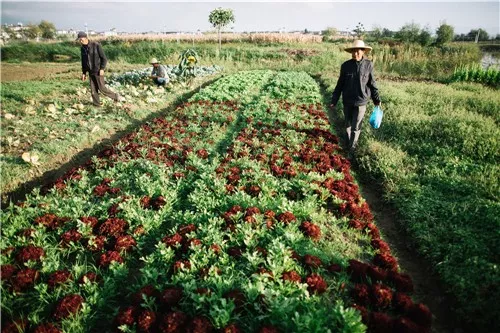
<svg viewBox="0 0 500 333">
<path fill-rule="evenodd" d="M 2 331 L 430 331 L 321 102 L 227 76 L 11 204 Z"/>
</svg>

